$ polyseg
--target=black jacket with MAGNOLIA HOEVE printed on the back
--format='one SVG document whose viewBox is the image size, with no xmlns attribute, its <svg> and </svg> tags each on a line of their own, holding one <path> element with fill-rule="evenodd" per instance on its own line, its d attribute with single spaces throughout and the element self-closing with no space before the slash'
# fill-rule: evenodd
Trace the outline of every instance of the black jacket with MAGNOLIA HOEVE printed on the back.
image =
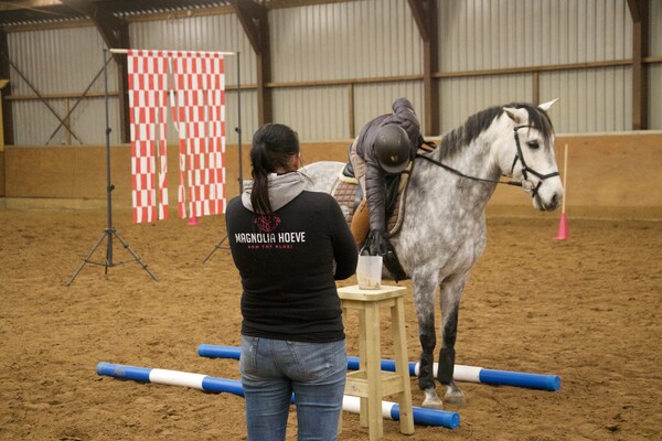
<svg viewBox="0 0 662 441">
<path fill-rule="evenodd" d="M 333 197 L 303 191 L 271 218 L 233 198 L 227 238 L 242 277 L 242 334 L 296 342 L 344 338 L 335 280 L 356 269 L 354 238 Z"/>
</svg>

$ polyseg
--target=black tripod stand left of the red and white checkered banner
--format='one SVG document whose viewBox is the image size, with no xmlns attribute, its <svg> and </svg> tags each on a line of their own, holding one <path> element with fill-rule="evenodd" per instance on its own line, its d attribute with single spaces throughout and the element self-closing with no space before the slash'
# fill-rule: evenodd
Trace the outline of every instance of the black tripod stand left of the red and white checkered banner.
<svg viewBox="0 0 662 441">
<path fill-rule="evenodd" d="M 134 257 L 134 260 L 137 261 L 138 263 L 140 263 L 142 269 L 146 270 L 147 273 L 150 275 L 150 277 L 152 279 L 158 281 L 157 278 L 154 277 L 154 275 L 152 275 L 151 271 L 147 268 L 147 265 L 145 265 L 142 262 L 142 260 L 140 260 L 138 255 L 136 255 L 136 252 L 134 252 L 134 250 L 131 248 L 129 248 L 129 245 L 121 238 L 121 236 L 119 236 L 119 234 L 117 233 L 117 229 L 115 229 L 115 227 L 113 226 L 113 190 L 115 190 L 115 185 L 113 185 L 110 183 L 110 122 L 109 122 L 109 117 L 108 117 L 108 72 L 107 72 L 106 66 L 107 66 L 106 50 L 104 50 L 104 82 L 105 82 L 105 92 L 106 92 L 106 178 L 107 178 L 106 194 L 107 194 L 107 205 L 108 205 L 108 227 L 106 229 L 104 229 L 104 234 L 102 235 L 99 240 L 97 240 L 96 245 L 92 248 L 92 251 L 89 251 L 87 257 L 85 257 L 85 259 L 83 260 L 83 263 L 81 263 L 78 269 L 76 269 L 76 272 L 74 272 L 74 276 L 72 276 L 70 281 L 66 282 L 67 287 L 70 284 L 72 284 L 74 279 L 83 270 L 83 268 L 85 267 L 86 263 L 104 266 L 104 267 L 106 267 L 106 273 L 108 273 L 108 268 L 117 267 L 119 265 L 124 265 L 124 263 L 131 261 L 131 260 L 126 260 L 126 261 L 121 261 L 121 262 L 113 261 L 113 237 L 116 237 L 117 240 L 119 240 L 119 243 L 125 247 L 125 249 L 130 252 L 130 255 Z M 104 241 L 105 238 L 108 238 L 108 248 L 106 249 L 106 261 L 105 262 L 95 262 L 93 260 L 89 260 L 92 258 L 92 256 L 94 255 L 94 252 L 96 251 L 96 249 L 99 247 L 99 245 L 102 245 L 102 243 Z"/>
</svg>

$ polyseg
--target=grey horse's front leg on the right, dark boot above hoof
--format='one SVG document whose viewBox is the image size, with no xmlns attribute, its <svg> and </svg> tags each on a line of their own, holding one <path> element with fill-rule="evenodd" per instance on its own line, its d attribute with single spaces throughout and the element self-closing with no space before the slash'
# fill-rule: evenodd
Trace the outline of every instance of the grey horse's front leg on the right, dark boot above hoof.
<svg viewBox="0 0 662 441">
<path fill-rule="evenodd" d="M 441 385 L 447 386 L 444 399 L 447 402 L 456 405 L 463 405 L 466 402 L 465 394 L 452 378 L 455 370 L 455 344 L 458 335 L 458 313 L 466 283 L 467 275 L 452 277 L 439 283 L 442 323 L 437 379 Z"/>
</svg>

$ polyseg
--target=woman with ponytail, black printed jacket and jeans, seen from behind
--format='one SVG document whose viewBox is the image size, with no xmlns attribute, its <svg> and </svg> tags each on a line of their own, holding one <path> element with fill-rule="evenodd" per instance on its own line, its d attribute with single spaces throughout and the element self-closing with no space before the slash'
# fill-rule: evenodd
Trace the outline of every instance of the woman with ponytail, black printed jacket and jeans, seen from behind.
<svg viewBox="0 0 662 441">
<path fill-rule="evenodd" d="M 285 440 L 292 392 L 299 440 L 335 440 L 346 377 L 334 280 L 357 250 L 331 195 L 306 191 L 299 140 L 269 123 L 253 137 L 253 185 L 226 226 L 242 277 L 242 357 L 248 441 Z"/>
</svg>

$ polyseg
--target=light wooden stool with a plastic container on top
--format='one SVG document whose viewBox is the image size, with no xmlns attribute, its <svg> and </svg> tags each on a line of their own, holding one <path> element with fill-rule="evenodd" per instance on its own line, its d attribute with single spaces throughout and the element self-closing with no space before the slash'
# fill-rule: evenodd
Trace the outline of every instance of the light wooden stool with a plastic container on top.
<svg viewBox="0 0 662 441">
<path fill-rule="evenodd" d="M 359 370 L 348 373 L 345 395 L 361 398 L 361 426 L 369 428 L 370 440 L 384 435 L 382 398 L 398 394 L 401 432 L 414 433 L 412 387 L 405 332 L 405 287 L 362 290 L 359 286 L 338 289 L 343 318 L 348 310 L 359 311 Z M 380 354 L 380 308 L 391 308 L 395 373 L 382 372 Z"/>
</svg>

